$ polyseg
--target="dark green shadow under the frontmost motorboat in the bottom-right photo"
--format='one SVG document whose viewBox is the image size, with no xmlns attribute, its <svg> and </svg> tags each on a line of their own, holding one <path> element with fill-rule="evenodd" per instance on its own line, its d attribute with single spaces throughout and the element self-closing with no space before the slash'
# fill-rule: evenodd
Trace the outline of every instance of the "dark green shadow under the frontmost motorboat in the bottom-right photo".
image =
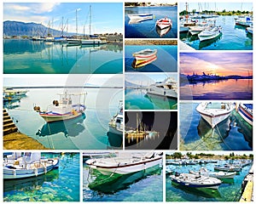
<svg viewBox="0 0 256 204">
<path fill-rule="evenodd" d="M 211 190 L 211 189 L 207 189 L 207 188 L 200 188 L 200 189 L 199 188 L 191 188 L 188 186 L 176 184 L 174 182 L 172 182 L 172 186 L 179 190 L 183 190 L 187 194 L 193 194 L 193 195 L 196 195 L 199 197 L 206 197 L 206 198 L 220 198 L 221 197 L 218 190 Z M 187 195 L 183 194 L 183 196 L 187 196 Z M 187 200 L 186 197 L 184 199 Z"/>
</svg>

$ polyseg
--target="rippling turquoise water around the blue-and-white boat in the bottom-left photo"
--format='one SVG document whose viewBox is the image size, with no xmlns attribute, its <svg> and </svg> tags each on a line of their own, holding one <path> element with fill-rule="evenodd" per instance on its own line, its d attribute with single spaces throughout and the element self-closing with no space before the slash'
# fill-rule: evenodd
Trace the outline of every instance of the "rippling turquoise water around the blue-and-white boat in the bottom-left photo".
<svg viewBox="0 0 256 204">
<path fill-rule="evenodd" d="M 42 154 L 48 158 L 60 156 Z M 36 178 L 5 181 L 3 201 L 79 201 L 79 153 L 61 156 L 59 168 Z"/>
</svg>

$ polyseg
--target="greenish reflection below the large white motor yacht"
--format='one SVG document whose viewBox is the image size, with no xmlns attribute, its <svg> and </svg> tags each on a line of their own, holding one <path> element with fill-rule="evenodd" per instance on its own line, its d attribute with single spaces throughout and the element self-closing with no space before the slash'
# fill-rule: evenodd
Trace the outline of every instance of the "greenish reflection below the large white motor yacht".
<svg viewBox="0 0 256 204">
<path fill-rule="evenodd" d="M 166 96 L 158 96 L 154 94 L 145 94 L 144 98 L 148 99 L 152 104 L 159 107 L 159 109 L 177 109 L 177 99 L 168 99 Z"/>
</svg>

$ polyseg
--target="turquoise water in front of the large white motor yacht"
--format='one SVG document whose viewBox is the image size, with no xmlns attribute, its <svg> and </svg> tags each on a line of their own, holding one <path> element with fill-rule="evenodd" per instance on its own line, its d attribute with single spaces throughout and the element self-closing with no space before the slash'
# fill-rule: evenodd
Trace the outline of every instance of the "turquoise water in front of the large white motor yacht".
<svg viewBox="0 0 256 204">
<path fill-rule="evenodd" d="M 143 89 L 125 89 L 125 110 L 177 110 L 177 99 L 148 95 Z"/>
</svg>

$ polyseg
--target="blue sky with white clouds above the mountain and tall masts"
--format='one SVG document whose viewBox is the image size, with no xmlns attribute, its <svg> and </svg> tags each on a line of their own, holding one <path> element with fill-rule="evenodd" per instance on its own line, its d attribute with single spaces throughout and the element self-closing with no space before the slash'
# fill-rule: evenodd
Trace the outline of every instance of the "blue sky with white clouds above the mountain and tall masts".
<svg viewBox="0 0 256 204">
<path fill-rule="evenodd" d="M 62 17 L 68 31 L 89 34 L 91 5 L 91 34 L 123 33 L 123 3 L 3 3 L 3 20 L 42 23 L 61 30 Z M 65 31 L 67 31 L 65 29 Z"/>
</svg>

